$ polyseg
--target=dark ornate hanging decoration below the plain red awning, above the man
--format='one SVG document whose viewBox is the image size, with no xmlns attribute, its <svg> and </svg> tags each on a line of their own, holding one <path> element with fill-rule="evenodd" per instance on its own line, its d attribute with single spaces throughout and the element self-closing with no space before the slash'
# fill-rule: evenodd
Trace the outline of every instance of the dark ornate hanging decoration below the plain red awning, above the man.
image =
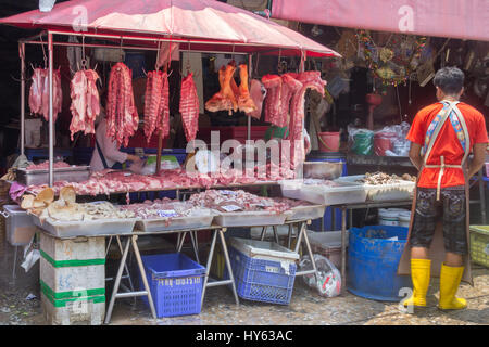
<svg viewBox="0 0 489 347">
<path fill-rule="evenodd" d="M 377 47 L 368 30 L 359 30 L 356 39 L 367 68 L 373 73 L 374 83 L 375 79 L 381 81 L 384 94 L 387 86 L 406 85 L 417 65 L 411 63 L 419 60 L 426 44 L 426 37 L 392 35 L 385 47 Z"/>
</svg>

